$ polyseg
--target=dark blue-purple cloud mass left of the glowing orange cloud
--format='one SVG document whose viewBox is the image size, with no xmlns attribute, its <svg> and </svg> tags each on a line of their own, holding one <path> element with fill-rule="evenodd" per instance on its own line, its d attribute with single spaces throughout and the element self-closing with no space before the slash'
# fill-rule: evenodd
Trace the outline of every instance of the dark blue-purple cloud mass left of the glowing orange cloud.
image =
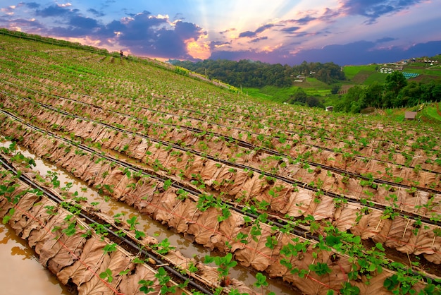
<svg viewBox="0 0 441 295">
<path fill-rule="evenodd" d="M 109 3 L 111 1 L 106 2 Z M 13 20 L 12 16 L 7 16 L 8 28 L 28 28 L 51 37 L 84 38 L 99 46 L 128 48 L 132 54 L 141 56 L 192 59 L 187 44 L 207 34 L 198 25 L 182 21 L 179 13 L 175 18 L 181 19 L 173 21 L 167 15 L 143 11 L 103 23 L 101 17 L 104 13 L 89 8 L 83 14 L 70 3 L 40 6 L 35 2 L 20 2 L 20 6 L 32 8 L 34 16 L 44 19 L 45 25 L 22 18 Z"/>
</svg>

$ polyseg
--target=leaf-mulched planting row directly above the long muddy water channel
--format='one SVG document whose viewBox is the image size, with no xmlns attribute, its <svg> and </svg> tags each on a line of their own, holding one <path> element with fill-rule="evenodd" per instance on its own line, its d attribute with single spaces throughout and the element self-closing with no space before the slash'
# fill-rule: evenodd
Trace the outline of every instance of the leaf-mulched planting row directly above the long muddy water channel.
<svg viewBox="0 0 441 295">
<path fill-rule="evenodd" d="M 4 121 L 8 120 L 5 118 Z M 203 196 L 196 198 L 192 195 L 184 197 L 182 194 L 185 193 L 173 189 L 166 182 L 158 183 L 154 180 L 135 176 L 133 175 L 134 171 L 128 175 L 128 171 L 124 171 L 123 167 L 118 167 L 118 164 L 112 165 L 97 155 L 91 155 L 78 150 L 75 152 L 74 146 L 69 149 L 66 143 L 61 143 L 56 138 L 45 138 L 42 135 L 38 135 L 38 133 L 26 130 L 26 128 L 20 131 L 20 128 L 16 128 L 18 126 L 11 128 L 12 126 L 8 126 L 8 124 L 13 124 L 13 122 L 9 121 L 3 125 L 6 133 L 9 136 L 15 135 L 18 138 L 23 138 L 21 143 L 27 146 L 27 148 L 36 150 L 39 155 L 49 157 L 49 159 L 58 162 L 68 171 L 73 171 L 75 175 L 80 176 L 85 181 L 89 181 L 91 185 L 101 187 L 103 191 L 113 195 L 113 198 L 132 203 L 140 212 L 147 213 L 155 219 L 166 222 L 169 226 L 178 229 L 178 231 L 187 231 L 187 234 L 194 235 L 195 241 L 205 242 L 207 246 L 211 244 L 212 246 L 222 247 L 225 251 L 234 252 L 235 258 L 242 264 L 251 265 L 257 270 L 266 270 L 270 275 L 274 275 L 275 272 L 280 273 L 280 265 L 273 270 L 274 264 L 271 264 L 274 263 L 274 260 L 275 262 L 279 261 L 286 267 L 285 272 L 282 273 L 284 279 L 294 282 L 299 289 L 305 290 L 307 293 L 312 291 L 311 289 L 305 289 L 306 285 L 309 286 L 308 288 L 311 287 L 311 282 L 309 281 L 311 278 L 322 283 L 319 284 L 319 288 L 314 286 L 314 288 L 318 288 L 318 293 L 323 293 L 323 291 L 328 289 L 339 290 L 342 286 L 343 288 L 350 288 L 354 286 L 344 283 L 347 276 L 352 277 L 354 285 L 359 286 L 359 284 L 356 284 L 358 276 L 367 273 L 376 276 L 373 272 L 376 273 L 377 267 L 380 267 L 380 265 L 374 267 L 373 264 L 385 263 L 384 253 L 377 253 L 377 251 L 374 251 L 376 248 L 372 249 L 369 255 L 363 253 L 361 251 L 363 248 L 361 239 L 355 239 L 352 235 L 349 235 L 353 237 L 350 248 L 347 248 L 349 245 L 342 246 L 340 243 L 335 243 L 335 241 L 341 241 L 344 235 L 347 234 L 338 231 L 334 227 L 328 229 L 328 236 L 333 236 L 336 240 L 327 237 L 326 240 L 322 239 L 321 243 L 314 244 L 301 239 L 299 236 L 290 238 L 292 234 L 283 234 L 268 227 L 266 224 L 262 224 L 259 219 L 263 217 L 259 217 L 254 222 L 242 215 L 237 215 L 235 212 L 225 210 L 225 208 L 216 207 L 216 204 L 209 207 L 201 207 L 201 205 L 207 205 L 205 202 L 208 198 L 201 198 Z M 193 198 L 194 200 L 192 200 Z M 220 219 L 218 215 L 221 215 L 219 216 L 221 217 Z M 331 232 L 333 234 L 330 234 Z M 243 241 L 237 240 L 238 236 Z M 285 236 L 286 238 L 284 238 Z M 347 236 L 344 238 L 346 239 Z M 293 241 L 297 243 L 292 243 Z M 299 241 L 302 241 L 302 246 L 299 246 Z M 344 243 L 347 243 L 347 241 Z M 350 251 L 356 249 L 355 252 L 358 255 L 358 259 L 351 260 L 340 255 L 338 255 L 338 258 L 333 258 L 333 255 L 337 254 L 332 251 L 330 246 L 336 245 L 338 246 L 335 248 L 338 248 L 345 255 L 349 253 L 349 249 L 352 249 Z M 304 248 L 304 251 L 302 251 L 303 255 L 307 255 L 310 261 L 304 260 L 304 257 L 298 257 L 299 248 L 295 250 L 296 247 Z M 376 247 L 382 248 L 380 243 Z M 282 250 L 290 252 L 283 252 Z M 296 255 L 293 255 L 292 251 L 295 251 Z M 375 252 L 375 254 L 372 252 Z M 354 252 L 350 253 L 354 255 Z M 291 260 L 287 260 L 286 258 L 290 258 L 291 255 L 293 255 Z M 362 258 L 359 257 L 360 255 L 363 255 Z M 373 258 L 376 259 L 375 263 L 371 261 Z M 297 260 L 301 260 L 306 265 L 316 265 L 318 268 L 308 266 L 305 270 L 301 271 L 299 267 L 292 266 L 294 262 L 294 265 L 302 265 Z M 337 262 L 334 266 L 333 260 Z M 344 260 L 347 260 L 347 263 L 352 261 L 352 263 L 343 263 L 347 267 L 342 268 L 342 261 Z M 362 263 L 364 266 L 360 265 L 361 261 L 364 261 Z M 330 264 L 333 267 L 328 266 L 327 268 L 325 264 Z M 368 267 L 368 269 L 365 270 L 364 267 Z M 322 268 L 325 270 L 321 270 Z M 342 272 L 342 269 L 346 271 Z M 290 270 L 292 270 L 292 273 Z M 330 282 L 328 279 L 331 279 L 331 277 L 328 277 L 326 274 L 334 273 L 333 270 L 337 271 L 337 273 L 331 276 L 332 282 Z M 294 275 L 297 272 L 299 272 L 300 276 Z M 394 276 L 390 272 L 382 272 L 383 275 L 386 273 L 390 274 L 389 277 Z M 380 277 L 383 275 L 380 275 Z M 408 275 L 406 274 L 405 276 L 408 277 Z M 323 276 L 326 277 L 325 282 L 323 282 Z M 378 287 L 386 278 L 379 279 Z M 421 279 L 421 277 L 409 278 L 411 278 L 409 282 L 412 281 L 412 284 L 416 284 Z M 371 284 L 372 282 L 373 280 L 371 280 Z M 357 288 L 361 286 L 366 288 L 363 283 L 360 283 L 360 286 Z M 395 287 L 399 286 L 394 285 L 392 289 Z"/>
</svg>

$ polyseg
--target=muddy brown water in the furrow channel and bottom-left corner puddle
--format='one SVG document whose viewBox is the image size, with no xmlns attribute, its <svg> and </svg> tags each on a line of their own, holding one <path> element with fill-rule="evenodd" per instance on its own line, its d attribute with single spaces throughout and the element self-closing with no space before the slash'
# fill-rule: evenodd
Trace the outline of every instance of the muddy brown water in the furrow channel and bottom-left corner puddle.
<svg viewBox="0 0 441 295">
<path fill-rule="evenodd" d="M 5 147 L 8 147 L 9 144 L 10 144 L 9 142 L 0 143 L 1 146 L 5 146 Z M 101 196 L 94 189 L 89 188 L 85 182 L 76 179 L 73 176 L 70 176 L 70 174 L 67 174 L 66 171 L 63 171 L 63 169 L 58 169 L 58 167 L 54 166 L 53 164 L 50 164 L 49 162 L 36 158 L 35 155 L 28 152 L 27 150 L 21 147 L 18 148 L 20 148 L 20 152 L 22 152 L 23 155 L 25 155 L 26 157 L 32 157 L 33 159 L 35 159 L 36 167 L 33 167 L 32 169 L 35 171 L 39 171 L 39 174 L 41 174 L 42 176 L 46 176 L 47 174 L 54 175 L 54 173 L 56 173 L 56 176 L 58 177 L 58 180 L 61 183 L 61 188 L 66 188 L 66 190 L 70 191 L 71 193 L 77 191 L 78 195 L 87 198 L 89 203 L 92 202 L 99 203 L 97 207 L 99 207 L 99 209 L 101 209 L 103 212 L 107 212 L 108 215 L 114 216 L 117 214 L 120 215 L 122 214 L 123 217 L 120 217 L 121 219 L 130 219 L 131 217 L 136 216 L 137 222 L 139 222 L 139 224 L 137 224 L 138 230 L 144 231 L 149 236 L 156 237 L 156 239 L 158 239 L 159 241 L 162 241 L 163 239 L 168 239 L 168 241 L 170 241 L 170 244 L 175 246 L 176 249 L 181 251 L 185 256 L 194 257 L 197 260 L 203 260 L 205 255 L 223 255 L 221 253 L 211 254 L 211 252 L 208 249 L 204 248 L 203 246 L 192 243 L 192 241 L 185 239 L 180 234 L 173 233 L 173 231 L 170 231 L 168 227 L 165 227 L 163 224 L 159 222 L 151 220 L 146 215 L 140 215 L 139 212 L 137 212 L 137 210 L 126 205 L 125 203 L 120 203 L 115 200 L 105 201 L 103 196 Z M 4 235 L 13 236 L 13 234 L 9 233 L 10 231 L 11 230 L 4 228 L 4 232 L 6 233 Z M 16 236 L 15 238 L 20 241 L 20 238 Z M 3 236 L 0 236 L 0 239 L 3 239 Z M 37 288 L 42 288 L 41 294 L 52 294 L 46 292 L 46 288 L 54 287 L 54 285 L 58 288 L 58 291 L 56 291 L 54 294 L 68 294 L 68 293 L 62 293 L 62 291 L 60 290 L 63 287 L 61 287 L 58 281 L 56 281 L 56 278 L 54 278 L 54 276 L 52 276 L 48 270 L 44 270 L 39 265 L 37 258 L 35 258 L 35 255 L 32 252 L 32 249 L 29 249 L 29 247 L 27 247 L 27 244 L 25 242 L 23 242 L 23 244 L 20 245 L 21 246 L 19 247 L 21 247 L 20 249 L 22 249 L 20 250 L 20 253 L 21 252 L 26 253 L 26 255 L 29 257 L 26 260 L 30 260 L 36 263 L 37 266 L 40 267 L 40 270 L 36 270 L 36 271 L 43 272 L 46 277 L 44 279 L 41 278 L 38 279 L 37 283 L 32 283 L 31 281 L 30 287 L 32 287 L 32 292 L 25 292 L 21 289 L 23 287 L 23 284 L 21 283 L 20 284 L 10 283 L 13 282 L 12 280 L 5 280 L 4 282 L 2 282 L 4 275 L 6 275 L 6 273 L 9 272 L 9 265 L 11 265 L 11 267 L 16 266 L 18 270 L 22 268 L 22 266 L 15 263 L 14 260 L 8 261 L 8 259 L 6 260 L 2 259 L 1 265 L 2 266 L 8 265 L 8 267 L 0 267 L 0 283 L 1 283 L 0 286 L 7 285 L 8 288 L 11 288 L 11 292 L 6 294 L 40 294 L 34 292 L 35 289 Z M 19 251 L 19 248 L 15 248 L 15 251 Z M 13 251 L 9 251 L 7 248 L 4 249 L 0 247 L 1 258 L 3 258 L 3 256 L 6 257 L 11 256 L 11 258 L 13 258 L 13 256 L 15 255 L 16 254 L 13 254 Z M 8 261 L 7 264 L 6 261 Z M 26 270 L 30 270 L 30 268 L 27 268 Z M 30 275 L 27 275 L 27 277 L 32 277 L 33 272 L 34 270 L 29 271 Z M 245 284 L 247 284 L 249 287 L 252 287 L 254 282 L 256 282 L 255 275 L 256 272 L 254 272 L 253 270 L 246 269 L 245 267 L 242 267 L 240 265 L 237 265 L 236 267 L 234 267 L 234 269 L 230 270 L 231 277 L 240 279 L 241 281 L 245 282 Z M 20 275 L 19 277 L 20 279 L 23 279 L 22 275 Z M 42 285 L 44 285 L 44 287 L 40 287 Z M 14 291 L 14 288 L 17 289 Z M 256 289 L 256 291 L 260 293 L 261 289 Z M 290 286 L 281 282 L 280 280 L 275 282 L 272 281 L 269 282 L 268 287 L 263 289 L 263 294 L 266 294 L 270 291 L 273 291 L 275 294 L 301 294 L 301 293 L 296 293 L 296 291 L 292 290 Z"/>
</svg>

